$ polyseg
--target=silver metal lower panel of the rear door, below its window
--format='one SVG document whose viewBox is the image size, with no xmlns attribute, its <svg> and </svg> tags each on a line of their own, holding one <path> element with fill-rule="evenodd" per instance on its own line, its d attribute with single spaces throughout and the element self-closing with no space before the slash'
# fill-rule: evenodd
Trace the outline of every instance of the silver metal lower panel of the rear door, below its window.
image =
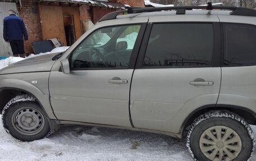
<svg viewBox="0 0 256 161">
<path fill-rule="evenodd" d="M 190 85 L 198 78 L 213 85 Z M 132 123 L 137 128 L 179 133 L 196 108 L 217 103 L 220 82 L 220 67 L 136 69 L 131 85 Z"/>
</svg>

